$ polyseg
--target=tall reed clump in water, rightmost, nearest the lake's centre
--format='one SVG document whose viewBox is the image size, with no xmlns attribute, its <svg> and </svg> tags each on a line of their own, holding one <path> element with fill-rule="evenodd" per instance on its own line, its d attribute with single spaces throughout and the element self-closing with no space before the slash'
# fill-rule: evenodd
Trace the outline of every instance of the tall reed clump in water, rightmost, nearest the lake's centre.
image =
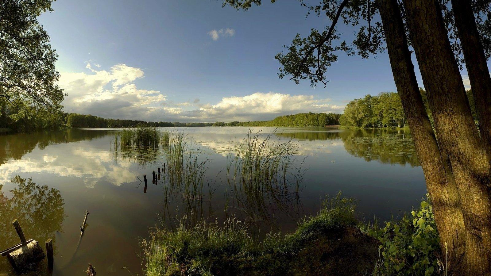
<svg viewBox="0 0 491 276">
<path fill-rule="evenodd" d="M 226 156 L 225 182 L 233 194 L 231 201 L 259 220 L 267 220 L 271 210 L 285 211 L 290 203 L 299 203 L 305 173 L 299 144 L 273 139 L 273 134 L 249 130 Z"/>
</svg>

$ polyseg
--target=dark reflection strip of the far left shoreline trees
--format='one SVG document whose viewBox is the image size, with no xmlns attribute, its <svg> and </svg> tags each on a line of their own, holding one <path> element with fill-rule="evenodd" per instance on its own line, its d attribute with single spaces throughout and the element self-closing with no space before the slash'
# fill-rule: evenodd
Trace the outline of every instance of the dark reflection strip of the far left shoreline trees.
<svg viewBox="0 0 491 276">
<path fill-rule="evenodd" d="M 67 129 L 64 131 L 40 131 L 0 135 L 0 165 L 8 159 L 21 159 L 36 145 L 45 148 L 52 144 L 91 140 L 106 135 L 107 131 Z"/>
</svg>

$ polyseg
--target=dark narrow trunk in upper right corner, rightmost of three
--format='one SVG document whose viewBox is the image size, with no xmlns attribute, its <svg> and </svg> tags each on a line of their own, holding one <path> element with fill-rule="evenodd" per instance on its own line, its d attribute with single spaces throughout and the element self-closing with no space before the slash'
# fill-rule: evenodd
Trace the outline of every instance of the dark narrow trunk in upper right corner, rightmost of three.
<svg viewBox="0 0 491 276">
<path fill-rule="evenodd" d="M 481 138 L 491 158 L 491 77 L 469 0 L 452 0 L 455 25 L 479 119 Z"/>
</svg>

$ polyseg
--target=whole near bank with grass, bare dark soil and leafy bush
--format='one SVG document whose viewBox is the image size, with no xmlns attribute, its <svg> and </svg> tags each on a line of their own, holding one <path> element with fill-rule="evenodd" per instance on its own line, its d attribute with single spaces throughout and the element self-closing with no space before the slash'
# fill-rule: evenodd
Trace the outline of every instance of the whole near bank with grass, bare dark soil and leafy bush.
<svg viewBox="0 0 491 276">
<path fill-rule="evenodd" d="M 263 240 L 247 223 L 202 221 L 153 229 L 142 243 L 146 274 L 157 275 L 443 275 L 444 257 L 431 204 L 383 227 L 355 219 L 355 200 L 326 200 L 295 232 Z"/>
</svg>

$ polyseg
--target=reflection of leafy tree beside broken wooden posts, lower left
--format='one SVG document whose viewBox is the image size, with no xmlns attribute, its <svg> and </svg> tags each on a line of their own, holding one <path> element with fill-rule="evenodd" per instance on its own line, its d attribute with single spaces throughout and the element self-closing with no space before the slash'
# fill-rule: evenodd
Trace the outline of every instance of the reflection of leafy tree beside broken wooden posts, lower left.
<svg viewBox="0 0 491 276">
<path fill-rule="evenodd" d="M 56 189 L 40 186 L 29 178 L 16 176 L 11 180 L 19 188 L 10 190 L 12 197 L 4 196 L 0 185 L 0 250 L 20 243 L 12 221 L 17 219 L 27 239 L 44 244 L 53 240 L 56 254 L 55 231 L 62 231 L 65 219 L 64 202 Z"/>
</svg>

